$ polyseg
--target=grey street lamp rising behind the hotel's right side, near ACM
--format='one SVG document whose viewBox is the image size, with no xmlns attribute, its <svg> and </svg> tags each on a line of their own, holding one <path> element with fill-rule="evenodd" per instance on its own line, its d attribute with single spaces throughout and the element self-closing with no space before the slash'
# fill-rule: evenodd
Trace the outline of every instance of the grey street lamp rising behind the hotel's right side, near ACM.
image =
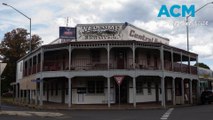
<svg viewBox="0 0 213 120">
<path fill-rule="evenodd" d="M 206 3 L 205 5 L 203 5 L 203 6 L 200 7 L 199 9 L 197 9 L 197 10 L 195 11 L 195 13 L 198 12 L 198 11 L 200 11 L 202 8 L 206 7 L 206 6 L 209 5 L 209 4 L 213 4 L 213 2 Z M 188 23 L 188 22 L 189 22 L 189 17 L 191 17 L 191 15 L 192 15 L 192 14 L 186 16 L 186 34 L 187 34 L 187 51 L 188 51 L 188 52 L 189 52 L 189 23 Z"/>
</svg>

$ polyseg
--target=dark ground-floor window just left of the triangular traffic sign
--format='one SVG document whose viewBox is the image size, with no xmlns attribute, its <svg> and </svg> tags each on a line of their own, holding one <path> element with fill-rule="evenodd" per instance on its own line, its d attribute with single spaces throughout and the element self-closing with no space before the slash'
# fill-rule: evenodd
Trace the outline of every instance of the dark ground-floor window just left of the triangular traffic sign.
<svg viewBox="0 0 213 120">
<path fill-rule="evenodd" d="M 88 81 L 88 93 L 104 93 L 104 81 Z"/>
</svg>

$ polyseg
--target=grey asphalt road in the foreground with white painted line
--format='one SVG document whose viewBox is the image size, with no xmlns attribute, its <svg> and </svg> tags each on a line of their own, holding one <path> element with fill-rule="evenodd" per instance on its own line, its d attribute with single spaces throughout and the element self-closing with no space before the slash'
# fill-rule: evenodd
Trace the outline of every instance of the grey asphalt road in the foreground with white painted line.
<svg viewBox="0 0 213 120">
<path fill-rule="evenodd" d="M 213 104 L 152 110 L 35 111 L 4 106 L 0 120 L 212 120 Z M 15 112 L 14 114 L 8 112 Z"/>
</svg>

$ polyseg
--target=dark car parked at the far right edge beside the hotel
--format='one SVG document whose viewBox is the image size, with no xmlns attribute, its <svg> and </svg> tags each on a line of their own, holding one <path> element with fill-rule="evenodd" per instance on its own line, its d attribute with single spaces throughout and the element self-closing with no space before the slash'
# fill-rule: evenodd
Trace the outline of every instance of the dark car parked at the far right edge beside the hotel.
<svg viewBox="0 0 213 120">
<path fill-rule="evenodd" d="M 205 90 L 201 93 L 201 103 L 202 104 L 211 104 L 213 102 L 213 91 L 212 90 Z"/>
</svg>

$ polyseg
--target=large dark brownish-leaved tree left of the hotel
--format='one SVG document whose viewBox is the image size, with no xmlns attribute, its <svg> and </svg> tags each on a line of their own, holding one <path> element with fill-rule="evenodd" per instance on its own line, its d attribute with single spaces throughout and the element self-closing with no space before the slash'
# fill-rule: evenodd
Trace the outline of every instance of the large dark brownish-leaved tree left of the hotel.
<svg viewBox="0 0 213 120">
<path fill-rule="evenodd" d="M 42 41 L 38 35 L 32 35 L 31 48 L 38 48 Z M 0 44 L 0 56 L 7 66 L 2 74 L 5 77 L 3 90 L 8 88 L 11 82 L 16 80 L 16 62 L 29 52 L 30 38 L 26 29 L 17 28 L 4 35 Z"/>
</svg>

